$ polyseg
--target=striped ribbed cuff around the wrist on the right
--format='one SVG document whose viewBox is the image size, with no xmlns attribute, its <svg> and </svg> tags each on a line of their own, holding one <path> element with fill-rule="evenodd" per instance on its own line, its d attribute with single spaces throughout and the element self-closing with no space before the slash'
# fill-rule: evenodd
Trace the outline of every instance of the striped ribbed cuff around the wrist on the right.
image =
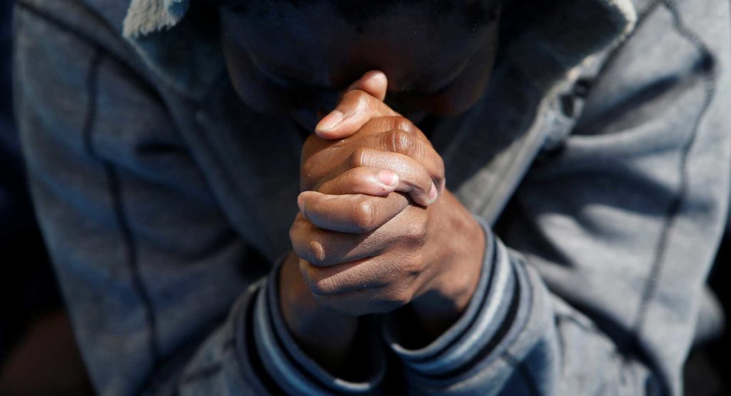
<svg viewBox="0 0 731 396">
<path fill-rule="evenodd" d="M 397 321 L 387 319 L 386 343 L 417 376 L 447 380 L 466 373 L 493 355 L 515 324 L 524 321 L 529 304 L 525 274 L 512 264 L 508 249 L 493 236 L 490 226 L 477 218 L 485 230 L 485 261 L 480 281 L 465 312 L 449 330 L 428 346 L 406 349 Z M 522 294 L 522 295 L 521 295 Z"/>
</svg>

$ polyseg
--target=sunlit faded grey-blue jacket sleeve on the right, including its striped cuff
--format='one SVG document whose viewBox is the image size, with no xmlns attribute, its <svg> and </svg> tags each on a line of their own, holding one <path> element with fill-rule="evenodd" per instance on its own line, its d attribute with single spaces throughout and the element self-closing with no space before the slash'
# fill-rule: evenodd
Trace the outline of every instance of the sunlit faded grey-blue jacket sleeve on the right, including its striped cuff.
<svg viewBox="0 0 731 396">
<path fill-rule="evenodd" d="M 680 395 L 731 180 L 727 1 L 650 1 L 582 118 L 488 233 L 474 299 L 417 395 Z M 583 99 L 582 99 L 583 100 Z"/>
</svg>

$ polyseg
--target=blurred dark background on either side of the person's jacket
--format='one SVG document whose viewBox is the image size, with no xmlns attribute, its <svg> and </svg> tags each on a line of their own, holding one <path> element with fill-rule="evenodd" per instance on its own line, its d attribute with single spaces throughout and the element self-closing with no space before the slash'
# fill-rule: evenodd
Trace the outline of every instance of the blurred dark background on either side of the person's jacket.
<svg viewBox="0 0 731 396">
<path fill-rule="evenodd" d="M 11 9 L 12 1 L 0 1 L 0 395 L 91 394 L 23 180 L 12 123 Z M 709 280 L 727 318 L 730 262 L 727 232 Z M 726 336 L 692 352 L 687 395 L 729 395 L 729 351 Z"/>
</svg>

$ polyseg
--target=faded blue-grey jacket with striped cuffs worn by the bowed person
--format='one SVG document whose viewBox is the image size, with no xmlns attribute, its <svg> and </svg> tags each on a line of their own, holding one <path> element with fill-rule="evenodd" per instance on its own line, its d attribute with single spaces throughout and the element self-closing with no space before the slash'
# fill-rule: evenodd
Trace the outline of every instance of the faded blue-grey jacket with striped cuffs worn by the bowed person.
<svg viewBox="0 0 731 396">
<path fill-rule="evenodd" d="M 372 318 L 361 378 L 338 378 L 277 302 L 302 134 L 238 101 L 204 4 L 20 0 L 23 152 L 96 390 L 679 394 L 721 320 L 729 4 L 512 3 L 488 91 L 432 131 L 488 235 L 477 292 L 423 349 Z"/>
</svg>

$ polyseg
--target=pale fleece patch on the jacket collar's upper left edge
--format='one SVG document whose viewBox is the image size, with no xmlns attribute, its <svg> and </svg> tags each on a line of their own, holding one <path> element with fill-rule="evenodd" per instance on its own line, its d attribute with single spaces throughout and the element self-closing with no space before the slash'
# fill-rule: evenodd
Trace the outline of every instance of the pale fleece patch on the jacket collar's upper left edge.
<svg viewBox="0 0 731 396">
<path fill-rule="evenodd" d="M 137 38 L 172 28 L 188 7 L 189 0 L 132 0 L 124 18 L 124 37 Z"/>
</svg>

